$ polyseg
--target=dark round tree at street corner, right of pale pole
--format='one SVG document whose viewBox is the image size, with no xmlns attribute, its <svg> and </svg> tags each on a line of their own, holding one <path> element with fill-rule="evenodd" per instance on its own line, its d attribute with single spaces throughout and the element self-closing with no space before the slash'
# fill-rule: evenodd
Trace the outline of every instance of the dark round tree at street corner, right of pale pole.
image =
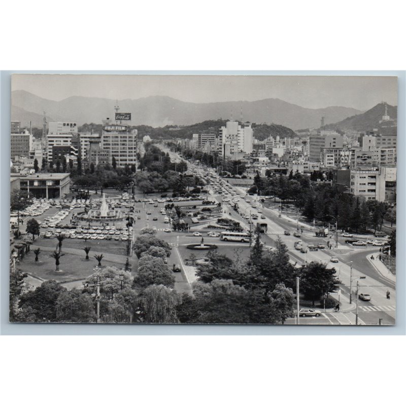
<svg viewBox="0 0 406 406">
<path fill-rule="evenodd" d="M 303 266 L 300 276 L 300 290 L 304 297 L 313 301 L 319 300 L 324 294 L 335 292 L 338 289 L 339 280 L 335 278 L 335 269 L 327 269 L 320 262 L 311 262 Z"/>
</svg>

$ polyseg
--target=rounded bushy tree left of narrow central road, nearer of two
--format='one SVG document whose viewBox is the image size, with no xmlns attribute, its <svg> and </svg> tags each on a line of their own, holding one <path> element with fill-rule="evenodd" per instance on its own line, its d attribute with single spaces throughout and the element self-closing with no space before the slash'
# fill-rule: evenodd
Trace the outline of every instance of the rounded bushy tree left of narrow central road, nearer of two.
<svg viewBox="0 0 406 406">
<path fill-rule="evenodd" d="M 141 255 L 137 275 L 134 277 L 134 288 L 146 288 L 150 285 L 165 285 L 173 288 L 174 284 L 175 278 L 162 258 L 147 253 Z"/>
</svg>

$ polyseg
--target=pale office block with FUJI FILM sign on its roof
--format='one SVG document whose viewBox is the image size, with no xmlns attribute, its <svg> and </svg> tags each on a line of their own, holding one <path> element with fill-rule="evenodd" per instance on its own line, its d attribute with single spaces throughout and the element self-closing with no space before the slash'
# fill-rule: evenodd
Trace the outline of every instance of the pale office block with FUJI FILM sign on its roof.
<svg viewBox="0 0 406 406">
<path fill-rule="evenodd" d="M 115 124 L 109 119 L 103 120 L 101 146 L 105 150 L 110 150 L 117 166 L 137 165 L 137 144 L 137 130 L 129 131 L 124 124 Z"/>
</svg>

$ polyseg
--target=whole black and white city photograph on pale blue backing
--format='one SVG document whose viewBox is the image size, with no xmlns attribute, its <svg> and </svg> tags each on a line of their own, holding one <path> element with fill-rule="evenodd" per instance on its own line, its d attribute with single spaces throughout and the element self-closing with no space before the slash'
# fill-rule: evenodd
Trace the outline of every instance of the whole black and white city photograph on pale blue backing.
<svg viewBox="0 0 406 406">
<path fill-rule="evenodd" d="M 397 87 L 13 74 L 9 322 L 395 325 Z"/>
</svg>

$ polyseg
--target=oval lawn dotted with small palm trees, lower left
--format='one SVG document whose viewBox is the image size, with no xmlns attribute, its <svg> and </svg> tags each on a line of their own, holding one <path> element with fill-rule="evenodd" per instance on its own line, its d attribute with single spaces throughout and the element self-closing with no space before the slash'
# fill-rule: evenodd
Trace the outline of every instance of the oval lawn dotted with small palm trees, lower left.
<svg viewBox="0 0 406 406">
<path fill-rule="evenodd" d="M 63 253 L 63 249 L 62 249 Z M 38 262 L 35 262 L 35 254 L 30 250 L 18 263 L 18 268 L 22 272 L 44 280 L 53 279 L 57 282 L 68 282 L 80 279 L 86 279 L 94 272 L 94 267 L 97 265 L 97 261 L 93 258 L 91 252 L 89 253 L 89 259 L 85 259 L 85 252 L 82 255 L 64 253 L 59 262 L 59 269 L 62 272 L 55 272 L 55 260 L 49 257 L 50 251 L 43 251 L 40 253 Z M 116 261 L 112 262 L 103 258 L 101 260 L 102 267 L 105 266 L 117 266 L 121 267 L 125 264 L 125 257 L 121 264 Z"/>
</svg>

